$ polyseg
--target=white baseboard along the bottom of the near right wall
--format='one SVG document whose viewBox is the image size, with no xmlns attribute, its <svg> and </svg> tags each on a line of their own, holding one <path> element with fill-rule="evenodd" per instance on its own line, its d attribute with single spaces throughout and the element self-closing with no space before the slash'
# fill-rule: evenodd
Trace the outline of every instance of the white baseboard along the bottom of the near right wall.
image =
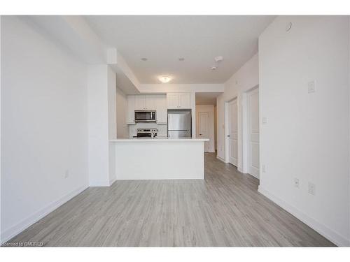
<svg viewBox="0 0 350 262">
<path fill-rule="evenodd" d="M 318 233 L 323 235 L 325 238 L 333 242 L 335 245 L 339 247 L 349 247 L 350 240 L 347 240 L 342 235 L 339 235 L 339 233 L 333 231 L 332 229 L 328 228 L 324 224 L 321 224 L 320 222 L 316 221 L 312 217 L 309 217 L 307 214 L 304 214 L 297 208 L 293 207 L 292 205 L 289 205 L 285 201 L 281 200 L 281 198 L 274 196 L 274 194 L 269 193 L 269 191 L 263 189 L 260 186 L 258 187 L 258 192 L 260 192 L 260 194 L 269 198 L 269 200 L 276 203 L 284 210 L 288 211 L 290 214 L 293 214 L 294 217 L 296 217 L 300 221 L 307 224 L 307 226 L 311 227 L 312 229 L 314 229 L 314 231 L 317 231 Z"/>
</svg>

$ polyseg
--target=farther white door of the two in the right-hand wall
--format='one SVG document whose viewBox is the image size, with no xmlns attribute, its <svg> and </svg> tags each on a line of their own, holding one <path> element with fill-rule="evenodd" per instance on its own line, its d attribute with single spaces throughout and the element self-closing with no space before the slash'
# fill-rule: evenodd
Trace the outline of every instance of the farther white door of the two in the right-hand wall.
<svg viewBox="0 0 350 262">
<path fill-rule="evenodd" d="M 228 103 L 228 122 L 229 122 L 229 162 L 237 166 L 238 163 L 238 115 L 237 99 Z"/>
</svg>

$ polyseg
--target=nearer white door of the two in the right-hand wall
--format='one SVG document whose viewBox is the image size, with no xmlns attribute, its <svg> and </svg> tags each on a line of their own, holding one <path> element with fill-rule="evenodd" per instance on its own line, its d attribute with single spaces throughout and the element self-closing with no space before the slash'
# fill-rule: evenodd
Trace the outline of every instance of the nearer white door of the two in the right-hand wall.
<svg viewBox="0 0 350 262">
<path fill-rule="evenodd" d="M 247 94 L 248 100 L 248 173 L 259 178 L 259 89 Z"/>
</svg>

